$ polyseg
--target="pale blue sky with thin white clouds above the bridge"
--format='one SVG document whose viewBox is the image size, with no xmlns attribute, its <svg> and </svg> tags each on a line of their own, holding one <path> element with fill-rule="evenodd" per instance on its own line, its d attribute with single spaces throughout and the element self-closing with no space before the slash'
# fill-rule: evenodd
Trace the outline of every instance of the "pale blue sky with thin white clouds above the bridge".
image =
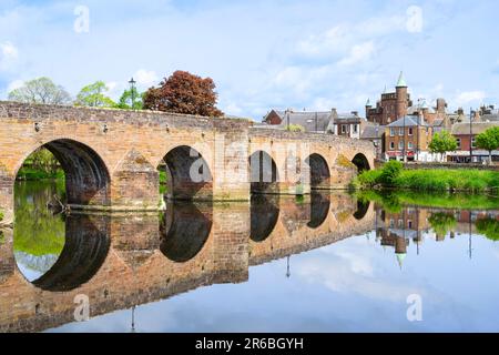
<svg viewBox="0 0 499 355">
<path fill-rule="evenodd" d="M 175 70 L 211 77 L 218 106 L 365 112 L 404 71 L 413 100 L 499 103 L 495 0 L 2 0 L 0 99 L 49 77 L 73 97 L 96 80 L 118 99 Z"/>
</svg>

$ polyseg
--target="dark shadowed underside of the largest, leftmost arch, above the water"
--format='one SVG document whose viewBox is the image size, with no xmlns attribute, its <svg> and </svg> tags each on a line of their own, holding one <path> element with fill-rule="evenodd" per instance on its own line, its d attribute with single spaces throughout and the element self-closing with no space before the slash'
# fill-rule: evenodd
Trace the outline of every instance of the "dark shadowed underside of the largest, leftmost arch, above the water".
<svg viewBox="0 0 499 355">
<path fill-rule="evenodd" d="M 42 146 L 55 156 L 64 170 L 69 204 L 110 204 L 109 171 L 94 150 L 69 139 L 58 139 Z"/>
</svg>

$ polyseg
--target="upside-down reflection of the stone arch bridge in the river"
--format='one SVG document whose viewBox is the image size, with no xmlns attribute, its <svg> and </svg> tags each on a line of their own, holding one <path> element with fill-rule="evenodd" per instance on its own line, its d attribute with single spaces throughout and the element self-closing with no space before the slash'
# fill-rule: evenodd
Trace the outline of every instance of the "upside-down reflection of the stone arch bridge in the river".
<svg viewBox="0 0 499 355">
<path fill-rule="evenodd" d="M 17 266 L 12 230 L 6 230 L 0 245 L 0 332 L 74 322 L 77 295 L 89 297 L 93 317 L 205 285 L 245 282 L 249 265 L 329 245 L 375 225 L 373 204 L 359 207 L 339 193 L 306 201 L 264 199 L 269 200 L 252 206 L 177 205 L 163 217 L 71 214 L 62 254 L 32 283 Z M 204 232 L 191 233 L 187 245 L 183 233 L 190 229 Z"/>
</svg>

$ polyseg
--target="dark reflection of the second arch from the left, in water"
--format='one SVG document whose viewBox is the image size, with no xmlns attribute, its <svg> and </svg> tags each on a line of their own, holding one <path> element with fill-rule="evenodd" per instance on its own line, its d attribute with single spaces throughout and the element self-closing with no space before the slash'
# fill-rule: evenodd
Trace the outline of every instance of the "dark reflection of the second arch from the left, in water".
<svg viewBox="0 0 499 355">
<path fill-rule="evenodd" d="M 192 260 L 206 243 L 212 223 L 211 206 L 202 212 L 192 203 L 169 204 L 160 226 L 161 252 L 176 263 Z"/>
</svg>

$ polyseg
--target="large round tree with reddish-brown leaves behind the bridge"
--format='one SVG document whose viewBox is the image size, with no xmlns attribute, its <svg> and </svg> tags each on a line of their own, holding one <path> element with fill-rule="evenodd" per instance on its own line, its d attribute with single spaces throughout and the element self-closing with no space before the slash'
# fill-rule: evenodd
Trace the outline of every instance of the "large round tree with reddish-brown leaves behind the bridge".
<svg viewBox="0 0 499 355">
<path fill-rule="evenodd" d="M 175 71 L 160 83 L 160 88 L 145 92 L 144 109 L 221 116 L 223 112 L 216 108 L 216 99 L 215 83 L 211 78 L 202 79 L 186 71 Z"/>
</svg>

